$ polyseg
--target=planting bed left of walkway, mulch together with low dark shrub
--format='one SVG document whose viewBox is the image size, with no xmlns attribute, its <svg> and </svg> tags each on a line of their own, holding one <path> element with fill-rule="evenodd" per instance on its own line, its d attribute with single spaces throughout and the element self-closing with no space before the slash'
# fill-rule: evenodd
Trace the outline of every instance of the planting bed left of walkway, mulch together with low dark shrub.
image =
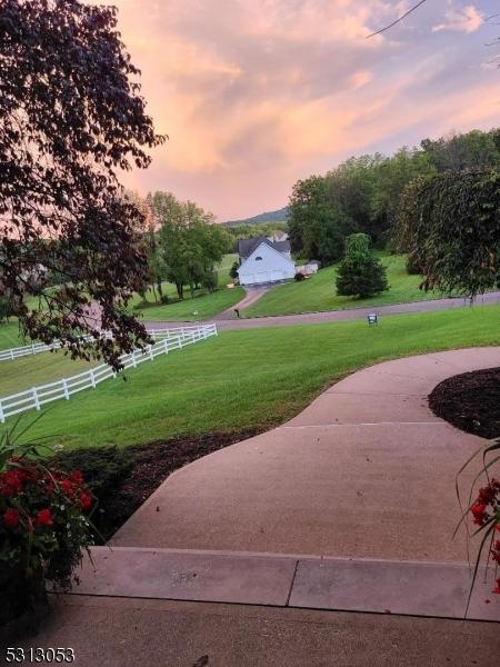
<svg viewBox="0 0 500 667">
<path fill-rule="evenodd" d="M 80 469 L 99 504 L 91 519 L 106 541 L 174 470 L 262 429 L 179 436 L 119 449 L 99 447 L 58 455 L 57 465 Z"/>
</svg>

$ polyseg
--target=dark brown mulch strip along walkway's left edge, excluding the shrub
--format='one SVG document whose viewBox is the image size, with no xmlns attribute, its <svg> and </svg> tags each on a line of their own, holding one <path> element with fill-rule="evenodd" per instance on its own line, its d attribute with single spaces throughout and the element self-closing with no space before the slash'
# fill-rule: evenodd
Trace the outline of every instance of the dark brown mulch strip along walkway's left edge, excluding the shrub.
<svg viewBox="0 0 500 667">
<path fill-rule="evenodd" d="M 102 536 L 109 539 L 174 470 L 259 432 L 262 429 L 216 431 L 128 447 L 131 470 L 99 501 L 96 522 Z"/>
</svg>

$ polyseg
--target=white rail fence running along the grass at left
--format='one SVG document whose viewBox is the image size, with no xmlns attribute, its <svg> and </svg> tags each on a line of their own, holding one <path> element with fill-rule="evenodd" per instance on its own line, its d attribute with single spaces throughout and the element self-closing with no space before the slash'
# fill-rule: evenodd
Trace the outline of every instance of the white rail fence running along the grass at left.
<svg viewBox="0 0 500 667">
<path fill-rule="evenodd" d="M 120 357 L 123 368 L 136 368 L 142 361 L 152 361 L 160 355 L 168 355 L 172 350 L 179 350 L 187 345 L 193 345 L 199 340 L 204 340 L 211 336 L 217 336 L 216 325 L 199 325 L 196 327 L 179 327 L 176 329 L 151 329 L 148 331 L 157 342 L 148 345 L 143 350 L 134 350 L 129 355 L 122 355 Z M 60 344 L 54 346 L 60 347 Z M 27 346 L 32 347 L 32 346 Z M 37 347 L 37 346 L 34 346 Z M 57 349 L 56 347 L 44 346 L 46 349 Z M 16 348 L 17 350 L 26 348 Z M 7 350 L 11 351 L 11 350 Z M 43 351 L 43 350 L 38 350 Z M 26 352 L 37 354 L 37 352 Z M 22 357 L 26 355 L 17 355 Z M 14 359 L 14 357 L 8 357 Z M 82 391 L 83 389 L 93 388 L 108 378 L 117 377 L 116 371 L 108 366 L 108 364 L 101 364 L 96 368 L 79 372 L 78 375 L 69 378 L 63 378 L 57 382 L 49 382 L 48 385 L 40 385 L 39 387 L 31 387 L 26 391 L 19 394 L 12 394 L 0 399 L 0 422 L 4 422 L 7 417 L 12 415 L 19 415 L 27 410 L 37 409 L 40 410 L 41 406 L 64 398 L 70 399 L 70 396 Z"/>
</svg>

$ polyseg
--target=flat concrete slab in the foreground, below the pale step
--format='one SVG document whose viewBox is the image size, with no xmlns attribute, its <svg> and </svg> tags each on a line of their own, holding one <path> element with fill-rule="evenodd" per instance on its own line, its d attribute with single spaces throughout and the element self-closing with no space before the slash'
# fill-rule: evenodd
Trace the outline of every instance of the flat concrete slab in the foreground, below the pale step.
<svg viewBox="0 0 500 667">
<path fill-rule="evenodd" d="M 498 667 L 498 624 L 63 596 L 32 639 L 77 667 Z M 10 644 L 11 646 L 12 644 Z"/>
</svg>

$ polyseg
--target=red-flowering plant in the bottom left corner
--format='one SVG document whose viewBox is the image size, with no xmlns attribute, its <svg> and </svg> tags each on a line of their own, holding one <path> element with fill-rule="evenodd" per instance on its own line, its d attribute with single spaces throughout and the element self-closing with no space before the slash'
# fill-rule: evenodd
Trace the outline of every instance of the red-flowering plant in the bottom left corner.
<svg viewBox="0 0 500 667">
<path fill-rule="evenodd" d="M 82 474 L 48 467 L 13 430 L 0 436 L 0 623 L 44 600 L 46 581 L 68 589 L 92 544 L 94 498 Z"/>
</svg>

